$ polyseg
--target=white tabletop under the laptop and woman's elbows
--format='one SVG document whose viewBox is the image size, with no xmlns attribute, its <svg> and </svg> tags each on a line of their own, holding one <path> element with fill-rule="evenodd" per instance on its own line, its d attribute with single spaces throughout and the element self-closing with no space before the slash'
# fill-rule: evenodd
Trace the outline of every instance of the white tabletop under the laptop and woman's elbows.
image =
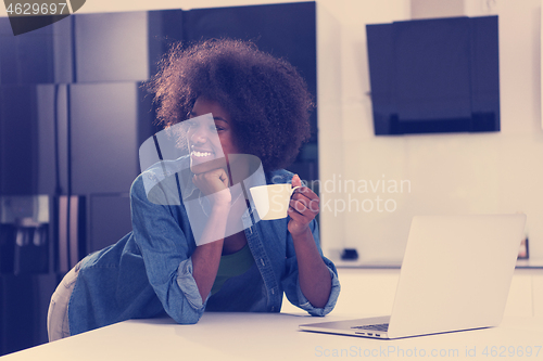
<svg viewBox="0 0 543 361">
<path fill-rule="evenodd" d="M 363 360 L 370 356 L 383 360 L 424 356 L 434 360 L 543 360 L 542 318 L 506 318 L 494 328 L 397 340 L 298 328 L 301 323 L 350 318 L 352 314 L 333 312 L 325 319 L 303 313 L 206 312 L 195 325 L 179 325 L 172 319 L 131 320 L 8 354 L 1 361 Z M 527 357 L 528 347 L 531 357 Z M 509 357 L 513 348 L 514 357 Z"/>
</svg>

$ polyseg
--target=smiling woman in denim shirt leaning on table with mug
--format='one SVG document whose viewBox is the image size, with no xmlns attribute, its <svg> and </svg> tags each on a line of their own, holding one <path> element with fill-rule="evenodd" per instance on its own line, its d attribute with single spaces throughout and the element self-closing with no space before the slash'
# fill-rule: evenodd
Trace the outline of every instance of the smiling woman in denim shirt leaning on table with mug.
<svg viewBox="0 0 543 361">
<path fill-rule="evenodd" d="M 182 124 L 190 155 L 135 180 L 132 232 L 66 274 L 51 298 L 50 340 L 164 312 L 184 324 L 204 310 L 279 312 L 283 292 L 311 314 L 330 312 L 340 286 L 318 245 L 318 196 L 301 186 L 288 218 L 255 221 L 229 172 L 236 154 L 250 154 L 262 162 L 266 183 L 302 185 L 281 169 L 310 137 L 311 96 L 295 69 L 252 43 L 210 40 L 173 48 L 149 87 L 166 127 L 189 118 Z M 207 114 L 212 127 L 195 121 Z M 166 168 L 176 172 L 150 190 L 146 180 Z M 181 195 L 177 204 L 160 201 L 168 201 L 168 182 Z M 188 199 L 201 196 L 206 218 L 193 232 Z M 240 227 L 228 232 L 228 224 Z"/>
</svg>

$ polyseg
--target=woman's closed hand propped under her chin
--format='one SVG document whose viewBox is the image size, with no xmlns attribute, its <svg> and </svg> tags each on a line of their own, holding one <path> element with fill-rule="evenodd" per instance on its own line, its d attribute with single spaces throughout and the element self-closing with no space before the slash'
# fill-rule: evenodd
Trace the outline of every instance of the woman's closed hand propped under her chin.
<svg viewBox="0 0 543 361">
<path fill-rule="evenodd" d="M 212 206 L 230 205 L 232 196 L 228 189 L 228 175 L 225 169 L 217 168 L 192 177 L 192 183 L 209 197 Z"/>
</svg>

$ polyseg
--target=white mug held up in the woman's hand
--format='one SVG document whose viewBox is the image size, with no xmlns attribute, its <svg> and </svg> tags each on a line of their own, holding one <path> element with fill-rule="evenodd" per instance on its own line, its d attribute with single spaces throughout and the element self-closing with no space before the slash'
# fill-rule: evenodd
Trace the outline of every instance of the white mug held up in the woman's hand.
<svg viewBox="0 0 543 361">
<path fill-rule="evenodd" d="M 268 184 L 250 189 L 253 203 L 261 220 L 286 218 L 292 193 L 300 186 L 291 184 Z"/>
</svg>

